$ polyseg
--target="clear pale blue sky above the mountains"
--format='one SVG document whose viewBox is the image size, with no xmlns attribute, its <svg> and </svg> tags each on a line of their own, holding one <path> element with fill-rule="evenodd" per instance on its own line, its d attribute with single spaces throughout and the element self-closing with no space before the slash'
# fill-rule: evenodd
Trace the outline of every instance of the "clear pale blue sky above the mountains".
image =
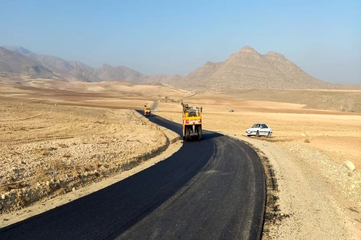
<svg viewBox="0 0 361 240">
<path fill-rule="evenodd" d="M 92 67 L 185 75 L 249 45 L 321 80 L 361 84 L 361 1 L 2 0 L 0 17 L 0 45 Z"/>
</svg>

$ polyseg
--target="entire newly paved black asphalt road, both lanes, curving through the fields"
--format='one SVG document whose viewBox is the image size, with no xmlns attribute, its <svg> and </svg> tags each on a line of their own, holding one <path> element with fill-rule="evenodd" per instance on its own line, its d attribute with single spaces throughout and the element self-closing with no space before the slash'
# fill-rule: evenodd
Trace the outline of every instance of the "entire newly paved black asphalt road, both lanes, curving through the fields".
<svg viewBox="0 0 361 240">
<path fill-rule="evenodd" d="M 180 124 L 151 121 L 181 133 Z M 248 145 L 203 131 L 168 159 L 0 229 L 0 239 L 258 239 L 265 187 Z"/>
</svg>

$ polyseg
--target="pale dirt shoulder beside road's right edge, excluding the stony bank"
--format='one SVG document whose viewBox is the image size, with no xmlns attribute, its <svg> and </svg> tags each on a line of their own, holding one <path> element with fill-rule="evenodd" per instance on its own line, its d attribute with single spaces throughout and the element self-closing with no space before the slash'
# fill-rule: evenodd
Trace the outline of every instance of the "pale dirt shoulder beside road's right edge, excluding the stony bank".
<svg viewBox="0 0 361 240">
<path fill-rule="evenodd" d="M 229 136 L 251 145 L 268 175 L 263 239 L 360 239 L 360 214 L 319 169 L 272 142 Z"/>
</svg>

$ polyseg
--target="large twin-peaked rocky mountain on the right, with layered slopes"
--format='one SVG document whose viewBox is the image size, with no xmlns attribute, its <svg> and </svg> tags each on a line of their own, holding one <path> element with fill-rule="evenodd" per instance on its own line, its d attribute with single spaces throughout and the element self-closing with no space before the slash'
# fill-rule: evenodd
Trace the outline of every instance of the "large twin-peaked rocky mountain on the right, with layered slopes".
<svg viewBox="0 0 361 240">
<path fill-rule="evenodd" d="M 171 82 L 172 84 L 172 82 Z M 206 62 L 181 81 L 177 87 L 197 91 L 235 89 L 333 89 L 340 85 L 318 80 L 305 73 L 282 54 L 259 54 L 245 46 L 225 62 Z"/>
</svg>

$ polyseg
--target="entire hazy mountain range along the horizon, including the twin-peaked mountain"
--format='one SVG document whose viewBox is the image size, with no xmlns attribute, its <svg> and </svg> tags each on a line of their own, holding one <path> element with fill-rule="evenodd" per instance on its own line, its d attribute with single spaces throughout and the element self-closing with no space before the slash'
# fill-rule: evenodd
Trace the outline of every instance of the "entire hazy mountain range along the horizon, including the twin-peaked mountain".
<svg viewBox="0 0 361 240">
<path fill-rule="evenodd" d="M 206 62 L 187 76 L 147 76 L 125 66 L 82 62 L 40 55 L 23 47 L 0 47 L 0 72 L 73 81 L 130 81 L 164 83 L 198 92 L 234 92 L 237 89 L 361 89 L 361 85 L 329 83 L 305 73 L 282 54 L 260 54 L 245 46 L 224 62 Z"/>
</svg>

